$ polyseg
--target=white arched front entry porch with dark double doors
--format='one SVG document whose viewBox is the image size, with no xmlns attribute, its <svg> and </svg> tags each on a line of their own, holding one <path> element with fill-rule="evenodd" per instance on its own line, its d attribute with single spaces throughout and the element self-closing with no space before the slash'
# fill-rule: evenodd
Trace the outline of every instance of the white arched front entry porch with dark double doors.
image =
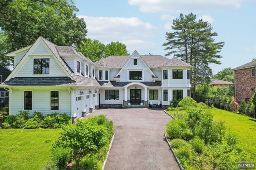
<svg viewBox="0 0 256 170">
<path fill-rule="evenodd" d="M 123 89 L 123 108 L 148 107 L 148 86 L 141 82 L 131 82 Z"/>
</svg>

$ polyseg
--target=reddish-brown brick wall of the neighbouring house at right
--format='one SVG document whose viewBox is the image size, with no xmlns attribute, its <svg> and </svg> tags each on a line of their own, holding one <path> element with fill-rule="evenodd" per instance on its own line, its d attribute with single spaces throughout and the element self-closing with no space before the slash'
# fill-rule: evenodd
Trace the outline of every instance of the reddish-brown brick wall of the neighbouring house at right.
<svg viewBox="0 0 256 170">
<path fill-rule="evenodd" d="M 256 70 L 256 69 L 255 69 Z M 236 101 L 251 98 L 256 88 L 256 76 L 251 76 L 251 68 L 236 70 Z M 242 89 L 243 88 L 243 89 Z M 253 89 L 253 90 L 251 90 Z"/>
</svg>

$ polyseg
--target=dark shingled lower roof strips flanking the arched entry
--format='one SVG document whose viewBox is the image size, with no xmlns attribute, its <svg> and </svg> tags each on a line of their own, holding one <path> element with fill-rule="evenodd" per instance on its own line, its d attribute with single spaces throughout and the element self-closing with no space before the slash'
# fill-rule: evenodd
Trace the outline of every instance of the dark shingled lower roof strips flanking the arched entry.
<svg viewBox="0 0 256 170">
<path fill-rule="evenodd" d="M 116 81 L 99 81 L 100 85 L 102 87 L 123 87 L 131 82 L 116 82 Z M 154 87 L 160 87 L 162 86 L 161 81 L 155 81 L 155 82 L 141 82 L 142 84 L 145 84 L 146 86 L 154 86 Z"/>
</svg>

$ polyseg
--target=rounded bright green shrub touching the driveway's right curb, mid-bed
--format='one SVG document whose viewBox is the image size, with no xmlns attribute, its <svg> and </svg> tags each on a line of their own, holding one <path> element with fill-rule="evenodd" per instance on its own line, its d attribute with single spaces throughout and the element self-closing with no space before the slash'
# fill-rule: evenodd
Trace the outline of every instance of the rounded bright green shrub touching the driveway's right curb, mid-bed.
<svg viewBox="0 0 256 170">
<path fill-rule="evenodd" d="M 184 138 L 187 133 L 187 124 L 182 119 L 171 120 L 166 126 L 166 135 L 170 139 L 181 139 L 182 137 Z"/>
</svg>

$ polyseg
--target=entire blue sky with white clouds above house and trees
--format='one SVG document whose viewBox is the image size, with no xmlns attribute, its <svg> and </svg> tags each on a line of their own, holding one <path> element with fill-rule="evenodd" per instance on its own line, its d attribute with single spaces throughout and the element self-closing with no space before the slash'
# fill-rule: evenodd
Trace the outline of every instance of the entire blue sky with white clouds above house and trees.
<svg viewBox="0 0 256 170">
<path fill-rule="evenodd" d="M 210 64 L 214 74 L 256 57 L 255 0 L 74 0 L 78 17 L 87 24 L 87 37 L 102 43 L 120 41 L 131 54 L 165 55 L 162 44 L 172 19 L 193 12 L 212 24 L 216 42 L 225 45 L 221 65 Z M 168 57 L 171 58 L 171 57 Z"/>
</svg>

